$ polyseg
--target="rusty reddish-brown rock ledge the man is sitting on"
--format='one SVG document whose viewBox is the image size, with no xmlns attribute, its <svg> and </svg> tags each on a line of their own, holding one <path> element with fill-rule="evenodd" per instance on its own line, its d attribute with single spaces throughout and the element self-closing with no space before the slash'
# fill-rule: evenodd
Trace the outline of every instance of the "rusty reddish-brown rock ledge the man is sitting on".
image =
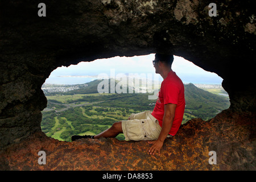
<svg viewBox="0 0 256 182">
<path fill-rule="evenodd" d="M 225 110 L 209 121 L 192 119 L 166 139 L 160 156 L 148 154 L 146 141 L 60 142 L 39 132 L 1 152 L 0 170 L 255 170 L 251 118 Z M 38 164 L 39 151 L 46 164 Z M 209 164 L 209 151 L 216 151 L 217 164 Z"/>
</svg>

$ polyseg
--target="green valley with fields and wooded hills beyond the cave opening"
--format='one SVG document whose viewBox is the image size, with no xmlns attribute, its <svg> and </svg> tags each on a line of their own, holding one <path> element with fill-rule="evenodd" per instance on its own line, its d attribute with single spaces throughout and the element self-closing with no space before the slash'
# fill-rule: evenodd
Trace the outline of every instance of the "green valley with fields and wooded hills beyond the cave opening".
<svg viewBox="0 0 256 182">
<path fill-rule="evenodd" d="M 148 100 L 150 93 L 98 93 L 98 80 L 67 92 L 46 94 L 48 104 L 42 111 L 41 128 L 48 137 L 71 141 L 72 135 L 95 135 L 114 122 L 126 120 L 131 113 L 153 110 L 156 100 Z M 192 118 L 208 120 L 229 107 L 226 97 L 218 96 L 185 84 L 185 113 L 183 124 Z M 216 90 L 214 90 L 216 92 Z M 123 140 L 123 134 L 117 139 Z"/>
</svg>

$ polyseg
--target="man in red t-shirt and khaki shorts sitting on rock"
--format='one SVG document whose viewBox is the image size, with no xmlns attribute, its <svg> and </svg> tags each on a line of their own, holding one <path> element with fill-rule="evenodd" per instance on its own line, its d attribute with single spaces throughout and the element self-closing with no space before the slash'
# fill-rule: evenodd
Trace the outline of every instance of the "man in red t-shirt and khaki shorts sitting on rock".
<svg viewBox="0 0 256 182">
<path fill-rule="evenodd" d="M 109 129 L 98 135 L 73 135 L 72 141 L 80 138 L 116 137 L 123 133 L 125 140 L 153 140 L 149 154 L 159 154 L 163 142 L 167 137 L 174 136 L 181 125 L 184 109 L 184 85 L 180 78 L 171 69 L 173 55 L 155 54 L 153 65 L 155 72 L 163 77 L 158 93 L 158 100 L 152 111 L 131 114 L 127 121 L 114 123 Z"/>
</svg>

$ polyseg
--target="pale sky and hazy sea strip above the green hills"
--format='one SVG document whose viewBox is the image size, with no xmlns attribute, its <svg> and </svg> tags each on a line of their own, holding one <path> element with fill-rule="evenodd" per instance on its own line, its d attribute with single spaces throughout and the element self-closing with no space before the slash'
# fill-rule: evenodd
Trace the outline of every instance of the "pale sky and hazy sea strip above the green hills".
<svg viewBox="0 0 256 182">
<path fill-rule="evenodd" d="M 102 77 L 146 77 L 162 81 L 155 73 L 152 60 L 155 54 L 134 57 L 112 57 L 91 62 L 80 62 L 69 67 L 59 67 L 52 71 L 46 84 L 84 84 Z M 174 56 L 172 71 L 181 78 L 184 84 L 221 84 L 222 78 L 216 73 L 204 71 L 183 57 Z"/>
</svg>

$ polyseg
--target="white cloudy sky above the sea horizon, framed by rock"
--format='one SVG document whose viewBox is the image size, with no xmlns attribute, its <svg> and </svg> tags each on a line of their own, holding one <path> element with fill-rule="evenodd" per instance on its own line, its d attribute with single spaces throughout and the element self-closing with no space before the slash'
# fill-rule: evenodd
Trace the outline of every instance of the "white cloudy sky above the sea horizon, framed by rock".
<svg viewBox="0 0 256 182">
<path fill-rule="evenodd" d="M 133 57 L 112 57 L 109 59 L 98 59 L 91 62 L 80 62 L 77 65 L 69 67 L 59 67 L 51 73 L 55 77 L 97 77 L 101 73 L 110 76 L 110 71 L 114 69 L 115 74 L 124 73 L 152 73 L 155 74 L 155 68 L 152 65 L 155 54 Z M 183 57 L 174 56 L 172 70 L 183 80 L 183 82 L 193 83 L 216 83 L 221 84 L 222 78 L 216 73 L 204 71 L 197 67 L 191 61 L 185 60 Z M 50 77 L 51 77 L 50 76 Z"/>
</svg>

